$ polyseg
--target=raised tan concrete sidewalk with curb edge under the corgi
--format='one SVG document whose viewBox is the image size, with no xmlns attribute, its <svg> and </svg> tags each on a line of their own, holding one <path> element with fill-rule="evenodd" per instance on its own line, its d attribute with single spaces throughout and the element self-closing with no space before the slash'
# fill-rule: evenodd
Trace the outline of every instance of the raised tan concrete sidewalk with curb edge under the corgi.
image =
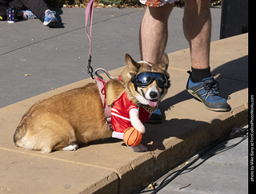
<svg viewBox="0 0 256 194">
<path fill-rule="evenodd" d="M 171 88 L 160 104 L 166 121 L 146 125 L 142 144 L 149 152 L 132 152 L 122 141 L 108 139 L 76 152 L 42 154 L 16 148 L 14 130 L 36 101 L 91 82 L 75 82 L 0 109 L 0 192 L 3 193 L 131 193 L 155 176 L 181 164 L 198 150 L 247 124 L 248 34 L 211 44 L 211 69 L 221 73 L 218 82 L 231 111 L 215 113 L 204 108 L 185 90 L 190 50 L 169 53 Z M 118 75 L 122 68 L 111 70 Z"/>
</svg>

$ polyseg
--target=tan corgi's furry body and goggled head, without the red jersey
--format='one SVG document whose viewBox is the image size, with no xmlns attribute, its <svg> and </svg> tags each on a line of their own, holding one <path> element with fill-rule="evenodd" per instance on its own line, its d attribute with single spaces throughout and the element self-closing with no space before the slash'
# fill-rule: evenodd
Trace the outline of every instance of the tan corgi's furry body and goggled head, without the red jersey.
<svg viewBox="0 0 256 194">
<path fill-rule="evenodd" d="M 121 73 L 121 79 L 106 82 L 106 105 L 113 108 L 111 117 L 112 113 L 114 117 L 114 111 L 118 113 L 114 105 L 120 96 L 126 96 L 134 107 L 139 106 L 139 109 L 143 108 L 146 113 L 153 113 L 170 87 L 168 64 L 166 53 L 159 65 L 146 61 L 136 62 L 126 54 L 126 68 Z M 135 113 L 135 120 L 136 116 L 139 118 L 138 113 Z M 141 121 L 135 120 L 134 123 L 143 128 Z M 118 120 L 113 121 L 118 123 Z M 145 129 L 141 130 L 145 133 Z M 118 132 L 118 124 L 114 132 L 122 133 Z M 106 122 L 98 86 L 96 83 L 89 83 L 32 105 L 23 115 L 14 133 L 14 144 L 41 152 L 72 151 L 78 149 L 78 142 L 86 144 L 114 137 L 114 132 Z M 147 150 L 146 146 L 141 144 L 130 148 L 134 152 Z"/>
</svg>

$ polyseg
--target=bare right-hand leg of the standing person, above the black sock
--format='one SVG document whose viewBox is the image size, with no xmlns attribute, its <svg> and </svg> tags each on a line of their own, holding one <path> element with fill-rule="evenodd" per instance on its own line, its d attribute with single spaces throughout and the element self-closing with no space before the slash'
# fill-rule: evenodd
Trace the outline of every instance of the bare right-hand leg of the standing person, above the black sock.
<svg viewBox="0 0 256 194">
<path fill-rule="evenodd" d="M 210 0 L 186 0 L 183 31 L 190 44 L 191 65 L 194 69 L 209 68 L 211 16 Z"/>
</svg>

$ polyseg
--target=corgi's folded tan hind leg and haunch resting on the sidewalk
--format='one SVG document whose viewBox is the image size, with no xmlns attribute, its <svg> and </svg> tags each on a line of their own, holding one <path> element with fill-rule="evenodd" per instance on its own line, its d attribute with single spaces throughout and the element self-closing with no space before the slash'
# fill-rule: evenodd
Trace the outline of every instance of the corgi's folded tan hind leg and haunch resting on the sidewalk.
<svg viewBox="0 0 256 194">
<path fill-rule="evenodd" d="M 18 144 L 22 148 L 52 152 L 63 150 L 76 141 L 70 123 L 53 113 L 38 114 L 26 123 L 26 127 L 26 135 Z"/>
</svg>

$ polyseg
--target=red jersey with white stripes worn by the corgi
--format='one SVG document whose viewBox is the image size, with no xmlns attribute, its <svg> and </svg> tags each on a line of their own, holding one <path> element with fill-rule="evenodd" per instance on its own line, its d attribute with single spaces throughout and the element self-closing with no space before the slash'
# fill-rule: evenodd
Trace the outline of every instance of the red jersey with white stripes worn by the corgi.
<svg viewBox="0 0 256 194">
<path fill-rule="evenodd" d="M 138 106 L 128 100 L 127 93 L 124 91 L 121 96 L 114 101 L 111 109 L 111 123 L 115 132 L 124 133 L 127 128 L 133 126 L 130 123 L 129 113 L 131 109 L 138 109 Z M 141 106 L 138 116 L 139 120 L 144 123 L 149 120 L 150 113 Z"/>
</svg>

